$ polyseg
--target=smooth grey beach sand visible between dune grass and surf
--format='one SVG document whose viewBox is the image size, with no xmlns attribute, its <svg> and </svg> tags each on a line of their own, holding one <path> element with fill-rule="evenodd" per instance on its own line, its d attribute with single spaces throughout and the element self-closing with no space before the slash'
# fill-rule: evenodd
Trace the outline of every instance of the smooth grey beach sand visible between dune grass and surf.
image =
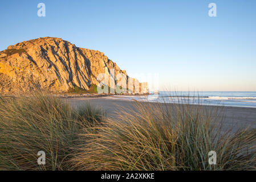
<svg viewBox="0 0 256 182">
<path fill-rule="evenodd" d="M 134 108 L 132 102 L 128 100 L 113 100 L 109 98 L 68 98 L 73 106 L 79 106 L 90 102 L 90 104 L 97 107 L 101 107 L 109 117 L 113 117 L 113 114 L 119 111 L 120 106 Z M 148 104 L 148 102 L 143 102 Z M 216 106 L 206 106 L 206 109 L 213 110 Z M 225 130 L 231 129 L 236 131 L 245 127 L 256 128 L 256 108 L 251 107 L 230 107 L 230 106 L 218 106 L 221 114 L 224 114 Z"/>
</svg>

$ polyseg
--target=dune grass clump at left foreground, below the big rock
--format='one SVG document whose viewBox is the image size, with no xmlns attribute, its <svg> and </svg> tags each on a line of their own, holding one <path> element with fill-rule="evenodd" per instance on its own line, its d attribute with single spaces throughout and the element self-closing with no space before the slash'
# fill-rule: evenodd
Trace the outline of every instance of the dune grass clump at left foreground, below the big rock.
<svg viewBox="0 0 256 182">
<path fill-rule="evenodd" d="M 0 170 L 72 168 L 69 160 L 79 134 L 99 124 L 102 115 L 90 105 L 78 110 L 42 93 L 0 97 Z M 46 165 L 38 165 L 38 151 L 46 153 Z"/>
</svg>

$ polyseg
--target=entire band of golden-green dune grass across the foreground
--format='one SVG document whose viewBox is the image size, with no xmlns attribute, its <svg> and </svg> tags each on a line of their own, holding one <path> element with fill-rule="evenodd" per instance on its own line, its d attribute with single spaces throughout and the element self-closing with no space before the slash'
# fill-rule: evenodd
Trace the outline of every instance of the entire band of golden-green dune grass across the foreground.
<svg viewBox="0 0 256 182">
<path fill-rule="evenodd" d="M 40 93 L 0 97 L 0 170 L 256 169 L 255 133 L 222 130 L 218 113 L 137 102 L 108 118 L 90 104 L 74 108 Z M 46 152 L 44 166 L 38 151 Z"/>
</svg>

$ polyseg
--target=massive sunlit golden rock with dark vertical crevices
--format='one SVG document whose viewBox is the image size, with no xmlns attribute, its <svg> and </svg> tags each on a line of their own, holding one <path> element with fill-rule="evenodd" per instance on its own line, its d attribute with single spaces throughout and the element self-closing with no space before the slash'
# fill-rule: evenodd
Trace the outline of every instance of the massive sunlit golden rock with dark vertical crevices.
<svg viewBox="0 0 256 182">
<path fill-rule="evenodd" d="M 98 85 L 100 73 L 127 73 L 103 52 L 76 47 L 60 38 L 39 38 L 0 52 L 0 92 L 29 92 L 35 88 L 67 92 Z M 133 84 L 134 85 L 134 84 Z"/>
</svg>

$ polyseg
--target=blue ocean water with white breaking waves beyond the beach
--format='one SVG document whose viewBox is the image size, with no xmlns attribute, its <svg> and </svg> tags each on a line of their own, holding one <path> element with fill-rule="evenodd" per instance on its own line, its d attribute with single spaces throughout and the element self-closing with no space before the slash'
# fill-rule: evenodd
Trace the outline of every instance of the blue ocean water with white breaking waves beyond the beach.
<svg viewBox="0 0 256 182">
<path fill-rule="evenodd" d="M 203 105 L 255 107 L 256 92 L 161 92 L 148 96 L 111 96 L 113 99 Z"/>
</svg>

